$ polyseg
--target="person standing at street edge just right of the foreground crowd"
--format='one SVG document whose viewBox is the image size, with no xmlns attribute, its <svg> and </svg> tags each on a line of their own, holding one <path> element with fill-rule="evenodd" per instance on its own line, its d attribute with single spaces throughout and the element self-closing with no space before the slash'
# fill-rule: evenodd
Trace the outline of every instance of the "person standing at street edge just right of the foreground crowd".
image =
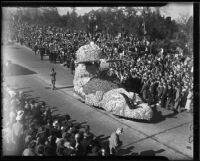
<svg viewBox="0 0 200 161">
<path fill-rule="evenodd" d="M 123 128 L 118 128 L 114 131 L 109 138 L 110 154 L 116 155 L 119 151 L 122 142 L 119 140 L 119 135 L 123 133 Z"/>
</svg>

